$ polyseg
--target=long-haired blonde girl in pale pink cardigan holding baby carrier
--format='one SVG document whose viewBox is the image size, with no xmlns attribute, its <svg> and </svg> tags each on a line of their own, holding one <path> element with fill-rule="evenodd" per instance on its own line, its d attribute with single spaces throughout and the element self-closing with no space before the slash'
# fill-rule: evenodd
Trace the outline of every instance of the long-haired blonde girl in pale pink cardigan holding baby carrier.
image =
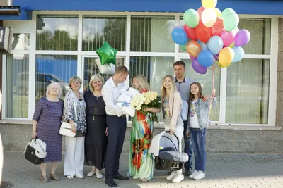
<svg viewBox="0 0 283 188">
<path fill-rule="evenodd" d="M 161 101 L 165 130 L 169 130 L 170 134 L 175 133 L 179 141 L 181 141 L 184 130 L 183 120 L 180 116 L 183 101 L 180 93 L 176 91 L 175 82 L 171 75 L 164 77 L 162 83 Z M 179 151 L 181 148 L 181 144 L 179 144 Z M 178 183 L 184 180 L 184 175 L 182 170 L 175 170 L 166 179 Z"/>
</svg>

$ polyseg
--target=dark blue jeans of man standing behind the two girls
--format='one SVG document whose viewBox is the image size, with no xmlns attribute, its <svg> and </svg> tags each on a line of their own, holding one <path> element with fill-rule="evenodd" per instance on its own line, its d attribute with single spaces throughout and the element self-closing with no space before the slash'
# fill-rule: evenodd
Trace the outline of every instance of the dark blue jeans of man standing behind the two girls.
<svg viewBox="0 0 283 188">
<path fill-rule="evenodd" d="M 187 137 L 187 120 L 184 121 L 184 152 L 189 156 L 189 161 L 184 164 L 185 170 L 192 170 L 192 142 L 190 142 L 190 138 Z"/>
</svg>

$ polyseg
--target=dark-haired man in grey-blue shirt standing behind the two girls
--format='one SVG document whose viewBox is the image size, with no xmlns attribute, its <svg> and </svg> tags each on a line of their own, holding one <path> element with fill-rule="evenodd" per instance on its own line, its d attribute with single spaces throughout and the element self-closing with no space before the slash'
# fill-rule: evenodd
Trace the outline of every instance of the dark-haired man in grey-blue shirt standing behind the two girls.
<svg viewBox="0 0 283 188">
<path fill-rule="evenodd" d="M 176 61 L 173 65 L 174 73 L 175 73 L 175 84 L 177 87 L 178 92 L 180 92 L 182 100 L 187 102 L 189 101 L 190 96 L 190 84 L 195 82 L 191 78 L 185 75 L 185 63 L 184 61 Z M 188 109 L 186 109 L 188 110 Z M 192 174 L 192 142 L 190 141 L 190 137 L 187 137 L 186 131 L 187 130 L 187 119 L 183 119 L 184 123 L 184 152 L 187 153 L 189 156 L 189 161 L 187 161 L 184 165 L 185 167 L 185 175 L 189 176 Z"/>
</svg>

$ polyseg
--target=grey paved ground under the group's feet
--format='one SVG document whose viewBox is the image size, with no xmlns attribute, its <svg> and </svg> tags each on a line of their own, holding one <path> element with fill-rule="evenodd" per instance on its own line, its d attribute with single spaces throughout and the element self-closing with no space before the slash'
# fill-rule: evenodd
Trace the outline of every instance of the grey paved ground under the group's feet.
<svg viewBox="0 0 283 188">
<path fill-rule="evenodd" d="M 126 175 L 129 154 L 122 153 L 120 173 Z M 91 168 L 85 166 L 86 175 Z M 50 172 L 50 163 L 47 165 Z M 104 173 L 104 170 L 103 170 Z M 154 179 L 147 183 L 130 178 L 129 181 L 117 180 L 119 187 L 125 188 L 209 188 L 209 187 L 282 187 L 283 188 L 283 154 L 235 154 L 208 153 L 207 177 L 203 180 L 190 180 L 185 177 L 180 183 L 166 180 L 167 171 L 154 170 Z M 86 177 L 83 180 L 69 180 L 63 175 L 63 163 L 59 163 L 57 175 L 61 178 L 55 182 L 40 182 L 40 167 L 25 160 L 21 152 L 4 152 L 4 171 L 2 180 L 11 182 L 17 188 L 104 188 L 105 179 Z"/>
</svg>

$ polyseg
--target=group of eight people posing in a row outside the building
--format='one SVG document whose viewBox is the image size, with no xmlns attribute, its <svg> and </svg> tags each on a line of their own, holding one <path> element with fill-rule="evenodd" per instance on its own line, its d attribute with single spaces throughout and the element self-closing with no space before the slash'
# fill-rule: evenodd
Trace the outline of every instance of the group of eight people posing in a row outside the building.
<svg viewBox="0 0 283 188">
<path fill-rule="evenodd" d="M 33 116 L 33 135 L 47 145 L 47 156 L 40 164 L 41 181 L 48 182 L 46 164 L 51 162 L 52 180 L 59 180 L 55 174 L 59 161 L 62 161 L 62 135 L 59 128 L 62 120 L 71 123 L 75 137 L 65 139 L 64 175 L 73 179 L 84 178 L 83 166 L 91 165 L 87 176 L 103 178 L 101 170 L 105 168 L 105 183 L 117 187 L 115 179 L 129 180 L 129 177 L 148 182 L 154 175 L 154 158 L 149 152 L 153 138 L 154 122 L 151 113 L 162 111 L 165 130 L 175 134 L 179 140 L 185 139 L 184 151 L 189 155 L 185 163 L 185 175 L 195 180 L 205 177 L 206 128 L 209 125 L 209 102 L 202 96 L 202 87 L 185 76 L 185 63 L 177 61 L 173 65 L 175 77 L 167 75 L 161 86 L 161 108 L 144 108 L 136 111 L 132 118 L 132 130 L 127 176 L 119 173 L 119 160 L 127 128 L 126 114 L 116 106 L 120 92 L 125 88 L 129 70 L 119 66 L 115 75 L 105 83 L 100 75 L 93 75 L 89 82 L 90 91 L 80 92 L 81 79 L 71 77 L 68 92 L 64 98 L 62 89 L 56 82 L 47 87 L 46 97 L 41 98 Z M 134 75 L 132 87 L 140 93 L 150 90 L 146 77 Z M 212 108 L 216 106 L 215 90 L 212 92 Z M 187 103 L 186 105 L 183 105 Z M 181 111 L 187 111 L 187 119 L 181 118 Z M 151 112 L 151 113 L 147 113 Z M 75 126 L 76 124 L 76 126 Z M 195 171 L 192 172 L 192 153 L 195 155 Z M 171 171 L 167 180 L 180 182 L 184 179 L 182 170 Z"/>
</svg>

